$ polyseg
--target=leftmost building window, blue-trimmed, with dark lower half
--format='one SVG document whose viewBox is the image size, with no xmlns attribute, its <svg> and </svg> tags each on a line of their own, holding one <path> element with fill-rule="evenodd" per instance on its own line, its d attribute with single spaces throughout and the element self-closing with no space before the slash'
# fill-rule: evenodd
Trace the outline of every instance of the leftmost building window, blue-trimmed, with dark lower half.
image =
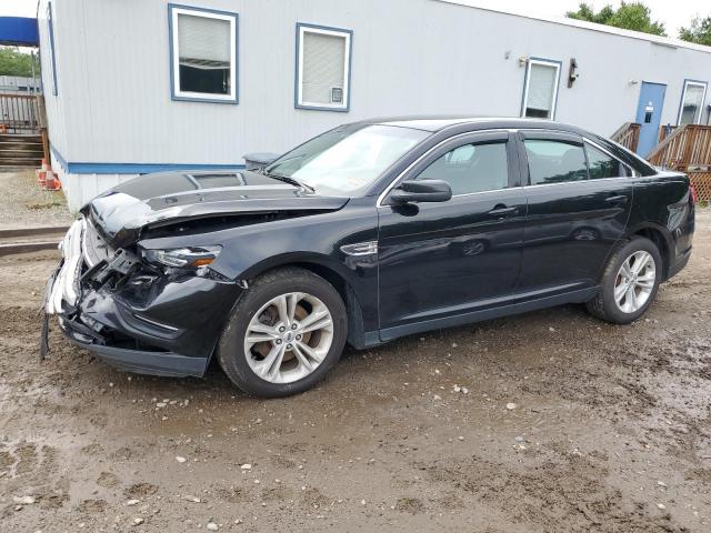
<svg viewBox="0 0 711 533">
<path fill-rule="evenodd" d="M 168 9 L 173 100 L 237 103 L 237 13 Z"/>
</svg>

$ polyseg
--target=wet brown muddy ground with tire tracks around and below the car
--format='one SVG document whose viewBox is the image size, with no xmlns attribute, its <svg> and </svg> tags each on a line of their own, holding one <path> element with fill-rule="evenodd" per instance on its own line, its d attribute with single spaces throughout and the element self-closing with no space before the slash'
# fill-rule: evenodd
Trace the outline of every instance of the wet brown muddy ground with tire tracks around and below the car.
<svg viewBox="0 0 711 533">
<path fill-rule="evenodd" d="M 432 332 L 272 401 L 56 331 L 38 363 L 57 259 L 1 259 L 0 531 L 711 531 L 709 210 L 694 243 L 633 325 L 564 306 Z"/>
</svg>

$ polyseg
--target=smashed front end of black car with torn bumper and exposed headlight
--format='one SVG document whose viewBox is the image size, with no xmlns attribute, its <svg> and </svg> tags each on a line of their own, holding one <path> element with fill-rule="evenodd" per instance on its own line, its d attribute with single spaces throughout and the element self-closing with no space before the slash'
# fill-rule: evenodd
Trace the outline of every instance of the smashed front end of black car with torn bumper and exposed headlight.
<svg viewBox="0 0 711 533">
<path fill-rule="evenodd" d="M 73 343 L 123 370 L 204 373 L 230 309 L 243 290 L 210 268 L 219 247 L 144 251 L 112 248 L 90 218 L 60 244 L 47 315 Z"/>
</svg>

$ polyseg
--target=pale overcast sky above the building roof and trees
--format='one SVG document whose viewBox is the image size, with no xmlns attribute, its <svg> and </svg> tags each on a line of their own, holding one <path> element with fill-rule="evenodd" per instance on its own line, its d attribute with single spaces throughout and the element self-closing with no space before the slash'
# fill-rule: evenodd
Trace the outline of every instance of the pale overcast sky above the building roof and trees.
<svg viewBox="0 0 711 533">
<path fill-rule="evenodd" d="M 259 1 L 259 0 L 253 0 Z M 575 10 L 580 0 L 470 0 L 473 4 L 491 7 L 505 11 L 523 12 L 545 17 L 563 16 L 565 11 Z M 607 3 L 619 6 L 619 0 L 588 0 L 595 10 Z M 711 1 L 709 0 L 644 0 L 652 9 L 654 20 L 664 22 L 667 33 L 677 37 L 679 28 L 689 26 L 695 14 L 711 16 Z M 0 17 L 34 17 L 37 0 L 0 0 Z"/>
</svg>

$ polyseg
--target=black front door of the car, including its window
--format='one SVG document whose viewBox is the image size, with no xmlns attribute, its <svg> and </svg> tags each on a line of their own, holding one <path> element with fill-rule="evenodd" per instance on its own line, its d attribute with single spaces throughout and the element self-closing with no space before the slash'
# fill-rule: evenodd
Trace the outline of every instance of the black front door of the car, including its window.
<svg viewBox="0 0 711 533">
<path fill-rule="evenodd" d="M 404 179 L 444 180 L 451 200 L 378 208 L 383 341 L 511 303 L 525 218 L 515 153 L 505 131 L 450 140 Z"/>
</svg>

